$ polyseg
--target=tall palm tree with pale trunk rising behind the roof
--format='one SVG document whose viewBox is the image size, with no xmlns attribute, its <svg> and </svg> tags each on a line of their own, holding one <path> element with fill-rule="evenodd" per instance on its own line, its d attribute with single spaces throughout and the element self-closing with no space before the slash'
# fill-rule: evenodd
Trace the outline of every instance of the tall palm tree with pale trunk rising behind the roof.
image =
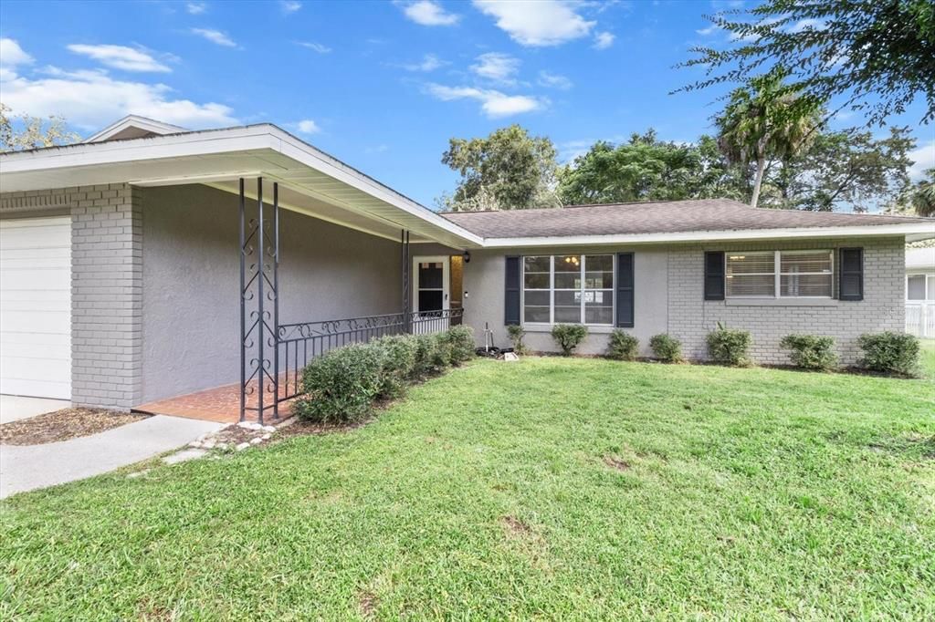
<svg viewBox="0 0 935 622">
<path fill-rule="evenodd" d="M 716 119 L 718 147 L 730 163 L 756 163 L 750 206 L 759 203 L 771 159 L 784 159 L 804 148 L 820 124 L 821 106 L 783 83 L 784 72 L 752 80 L 754 89 L 730 93 Z"/>
</svg>

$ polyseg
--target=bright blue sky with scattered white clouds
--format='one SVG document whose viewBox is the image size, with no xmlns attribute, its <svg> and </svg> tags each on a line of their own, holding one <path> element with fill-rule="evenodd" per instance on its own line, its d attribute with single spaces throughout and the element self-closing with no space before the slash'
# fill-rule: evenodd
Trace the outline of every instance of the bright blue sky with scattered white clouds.
<svg viewBox="0 0 935 622">
<path fill-rule="evenodd" d="M 80 134 L 125 114 L 188 128 L 269 121 L 434 205 L 456 177 L 452 136 L 513 122 L 563 160 L 654 127 L 710 132 L 716 91 L 669 92 L 697 44 L 728 45 L 702 15 L 742 2 L 14 2 L 0 4 L 0 99 Z M 924 103 L 921 170 L 935 165 Z M 862 124 L 856 116 L 839 127 Z"/>
</svg>

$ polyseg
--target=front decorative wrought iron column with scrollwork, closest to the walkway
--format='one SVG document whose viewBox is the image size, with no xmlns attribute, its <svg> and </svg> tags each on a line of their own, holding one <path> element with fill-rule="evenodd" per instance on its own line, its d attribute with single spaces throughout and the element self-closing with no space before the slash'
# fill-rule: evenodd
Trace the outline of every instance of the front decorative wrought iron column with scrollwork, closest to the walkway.
<svg viewBox="0 0 935 622">
<path fill-rule="evenodd" d="M 263 177 L 256 179 L 256 217 L 247 219 L 244 180 L 240 179 L 240 420 L 267 410 L 279 418 L 280 189 L 273 184 L 273 205 L 263 202 Z M 270 308 L 270 306 L 272 308 Z M 271 395 L 267 396 L 266 394 Z M 255 394 L 255 404 L 251 397 Z"/>
</svg>

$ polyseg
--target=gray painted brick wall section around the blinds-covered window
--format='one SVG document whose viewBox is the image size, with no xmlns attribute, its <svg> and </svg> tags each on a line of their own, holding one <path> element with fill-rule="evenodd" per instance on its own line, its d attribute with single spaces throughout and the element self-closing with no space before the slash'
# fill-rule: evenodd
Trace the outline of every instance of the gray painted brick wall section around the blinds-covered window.
<svg viewBox="0 0 935 622">
<path fill-rule="evenodd" d="M 704 300 L 705 250 L 751 251 L 807 248 L 864 248 L 864 300 L 834 301 L 830 305 L 734 305 L 732 301 Z M 837 270 L 837 266 L 835 266 Z M 790 332 L 829 335 L 836 339 L 841 363 L 859 357 L 857 337 L 864 332 L 902 332 L 905 247 L 901 237 L 884 239 L 812 240 L 796 243 L 741 243 L 720 246 L 680 246 L 669 251 L 669 334 L 683 343 L 689 359 L 708 357 L 705 336 L 718 321 L 729 328 L 750 331 L 754 360 L 788 364 L 788 352 L 779 346 Z M 837 280 L 837 279 L 836 279 Z M 837 283 L 835 283 L 837 287 Z"/>
</svg>

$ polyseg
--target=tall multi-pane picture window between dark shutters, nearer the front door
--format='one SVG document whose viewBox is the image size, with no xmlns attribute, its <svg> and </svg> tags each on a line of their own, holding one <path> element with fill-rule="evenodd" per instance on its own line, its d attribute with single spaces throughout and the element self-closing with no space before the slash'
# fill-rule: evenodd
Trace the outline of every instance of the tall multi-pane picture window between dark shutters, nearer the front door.
<svg viewBox="0 0 935 622">
<path fill-rule="evenodd" d="M 613 323 L 613 255 L 523 258 L 523 321 Z"/>
</svg>

